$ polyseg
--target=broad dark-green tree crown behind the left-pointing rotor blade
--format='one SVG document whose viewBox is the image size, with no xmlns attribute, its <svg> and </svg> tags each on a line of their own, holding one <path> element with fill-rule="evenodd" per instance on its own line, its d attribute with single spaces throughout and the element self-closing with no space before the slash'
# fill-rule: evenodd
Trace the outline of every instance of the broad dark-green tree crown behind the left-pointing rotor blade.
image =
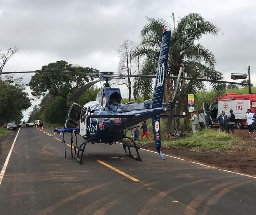
<svg viewBox="0 0 256 215">
<path fill-rule="evenodd" d="M 97 69 L 92 67 L 81 67 L 78 65 L 68 64 L 65 60 L 50 63 L 42 66 L 41 71 L 72 71 L 80 73 L 96 73 Z M 62 96 L 67 99 L 69 93 L 77 91 L 86 82 L 92 80 L 91 77 L 85 75 L 77 75 L 74 73 L 44 73 L 38 72 L 32 76 L 29 86 L 32 95 L 35 97 L 45 96 L 49 93 L 52 96 Z"/>
</svg>

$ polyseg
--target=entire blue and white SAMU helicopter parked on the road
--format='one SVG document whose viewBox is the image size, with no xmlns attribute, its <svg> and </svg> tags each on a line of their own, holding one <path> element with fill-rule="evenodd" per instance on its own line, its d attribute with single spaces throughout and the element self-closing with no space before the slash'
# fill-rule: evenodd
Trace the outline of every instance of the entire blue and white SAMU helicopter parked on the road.
<svg viewBox="0 0 256 215">
<path fill-rule="evenodd" d="M 66 118 L 65 126 L 61 129 L 54 129 L 54 134 L 63 135 L 71 133 L 71 157 L 73 157 L 72 151 L 74 150 L 76 160 L 81 164 L 83 153 L 85 151 L 85 146 L 87 143 L 103 143 L 110 144 L 116 142 L 121 142 L 125 151 L 125 154 L 131 158 L 142 161 L 139 155 L 139 149 L 136 145 L 136 142 L 126 135 L 127 129 L 136 127 L 136 124 L 145 121 L 149 118 L 152 120 L 153 127 L 153 136 L 155 142 L 155 148 L 159 153 L 160 157 L 165 160 L 166 158 L 162 154 L 161 148 L 161 132 L 160 132 L 160 114 L 165 113 L 167 110 L 170 111 L 168 116 L 167 126 L 165 130 L 166 138 L 170 134 L 171 124 L 173 120 L 174 108 L 177 106 L 176 92 L 178 89 L 178 84 L 174 88 L 174 94 L 171 101 L 163 103 L 163 94 L 165 79 L 172 78 L 177 79 L 177 83 L 180 82 L 180 79 L 186 80 L 198 80 L 198 81 L 211 81 L 211 82 L 220 82 L 220 83 L 234 83 L 229 81 L 218 81 L 218 80 L 208 80 L 200 78 L 190 78 L 190 77 L 181 77 L 184 68 L 184 65 L 181 63 L 178 76 L 166 76 L 167 60 L 169 54 L 169 44 L 171 38 L 171 31 L 164 29 L 162 36 L 162 44 L 159 55 L 159 62 L 157 66 L 156 76 L 147 76 L 147 75 L 124 75 L 124 74 L 115 74 L 110 71 L 99 72 L 99 73 L 79 73 L 72 71 L 27 71 L 27 72 L 12 72 L 14 73 L 35 73 L 35 72 L 65 72 L 65 73 L 76 73 L 86 76 L 92 76 L 98 78 L 97 80 L 91 81 L 85 84 L 80 90 L 70 97 L 70 101 L 73 101 L 73 104 L 70 107 L 68 116 Z M 10 74 L 11 72 L 3 72 L 2 74 Z M 115 79 L 123 79 L 126 77 L 140 77 L 140 78 L 155 78 L 155 88 L 153 91 L 153 98 L 145 100 L 143 103 L 132 103 L 127 102 L 126 104 L 121 104 L 122 96 L 120 94 L 119 88 L 111 88 L 109 82 Z M 83 106 L 75 103 L 75 101 L 90 87 L 94 84 L 105 81 L 103 88 L 99 91 L 96 96 L 96 101 L 91 101 Z M 250 85 L 252 84 L 243 84 Z M 163 104 L 168 106 L 163 107 Z M 73 144 L 73 134 L 79 134 L 85 141 L 79 146 Z M 129 139 L 129 142 L 125 139 Z M 62 142 L 62 143 L 63 143 Z M 66 147 L 66 144 L 64 144 Z M 134 156 L 131 153 L 131 148 L 134 148 L 137 155 Z M 81 152 L 81 154 L 80 154 Z M 79 156 L 80 154 L 80 156 Z M 65 157 L 66 157 L 66 148 L 65 148 Z"/>
</svg>

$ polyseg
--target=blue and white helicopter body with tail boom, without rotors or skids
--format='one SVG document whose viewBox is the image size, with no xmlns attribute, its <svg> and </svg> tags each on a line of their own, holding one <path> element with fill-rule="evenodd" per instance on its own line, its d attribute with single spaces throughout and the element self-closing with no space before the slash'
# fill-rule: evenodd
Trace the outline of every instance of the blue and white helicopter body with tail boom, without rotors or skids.
<svg viewBox="0 0 256 215">
<path fill-rule="evenodd" d="M 125 129 L 167 111 L 166 107 L 153 107 L 152 100 L 120 104 L 121 98 L 119 88 L 106 87 L 97 94 L 96 101 L 83 107 L 74 103 L 69 119 L 76 118 L 77 124 L 67 120 L 66 128 L 80 127 L 80 135 L 85 140 L 95 137 L 94 142 L 117 142 L 124 138 Z"/>
</svg>

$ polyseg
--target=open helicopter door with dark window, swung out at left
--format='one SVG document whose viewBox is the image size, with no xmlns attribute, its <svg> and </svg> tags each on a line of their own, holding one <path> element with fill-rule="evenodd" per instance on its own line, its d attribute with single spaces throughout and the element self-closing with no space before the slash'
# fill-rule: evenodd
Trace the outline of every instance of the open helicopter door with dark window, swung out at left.
<svg viewBox="0 0 256 215">
<path fill-rule="evenodd" d="M 65 128 L 77 128 L 80 126 L 82 107 L 75 102 L 71 105 L 65 122 Z"/>
</svg>

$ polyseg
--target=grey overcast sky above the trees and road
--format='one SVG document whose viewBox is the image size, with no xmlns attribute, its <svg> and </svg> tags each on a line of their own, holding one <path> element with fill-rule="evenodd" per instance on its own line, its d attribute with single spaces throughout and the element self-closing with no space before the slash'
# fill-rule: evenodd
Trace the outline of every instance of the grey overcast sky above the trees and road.
<svg viewBox="0 0 256 215">
<path fill-rule="evenodd" d="M 255 11 L 256 3 L 250 0 L 0 0 L 0 48 L 3 53 L 10 45 L 20 48 L 3 72 L 33 71 L 57 60 L 117 72 L 116 49 L 125 38 L 139 41 L 146 16 L 173 25 L 172 12 L 176 20 L 200 13 L 222 31 L 200 40 L 215 55 L 217 69 L 232 81 L 231 73 L 250 65 L 256 84 Z M 30 78 L 24 75 L 24 82 Z"/>
</svg>

